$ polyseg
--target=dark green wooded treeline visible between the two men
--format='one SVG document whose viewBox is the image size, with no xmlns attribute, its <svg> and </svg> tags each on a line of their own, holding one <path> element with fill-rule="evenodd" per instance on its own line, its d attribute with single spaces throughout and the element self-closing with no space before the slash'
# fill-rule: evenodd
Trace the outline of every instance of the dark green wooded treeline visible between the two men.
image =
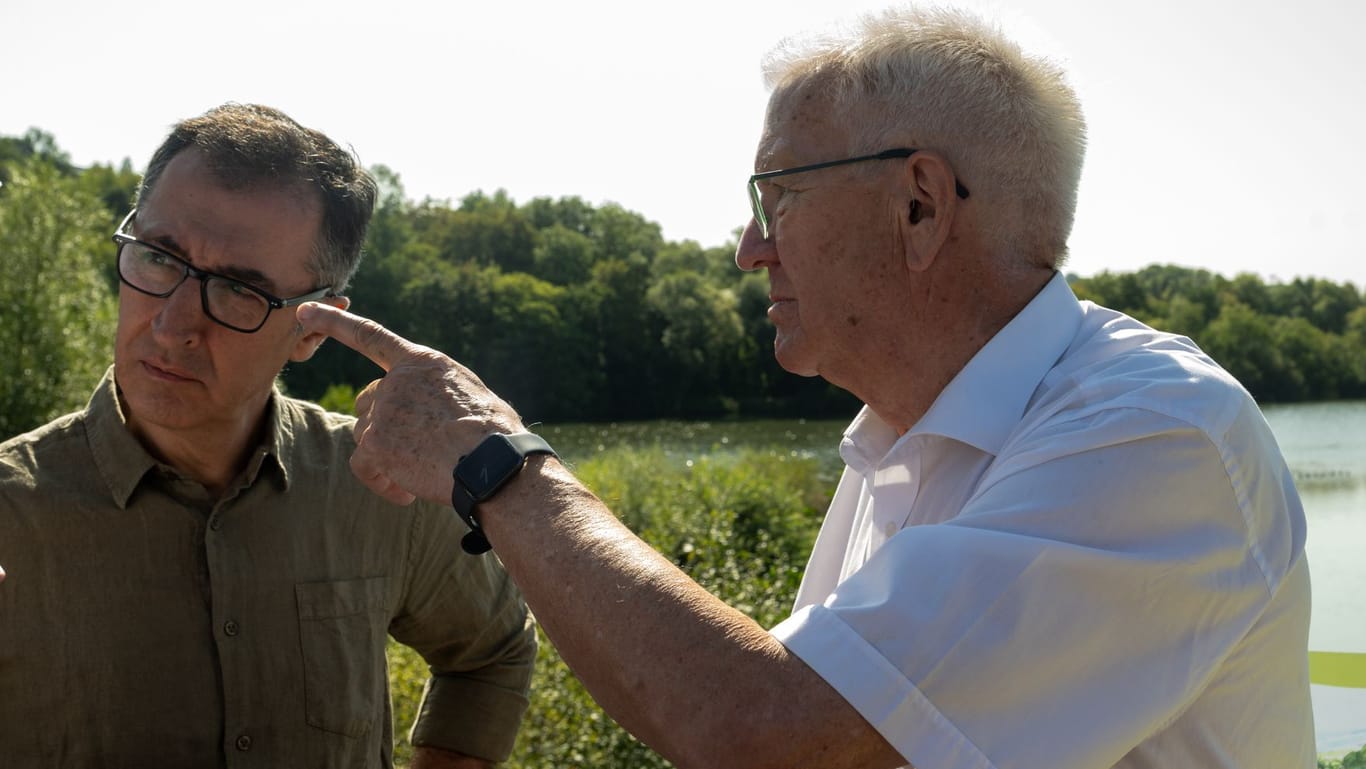
<svg viewBox="0 0 1366 769">
<path fill-rule="evenodd" d="M 348 295 L 357 313 L 466 363 L 529 419 L 850 413 L 770 354 L 768 279 L 734 246 L 671 242 L 619 205 L 474 193 L 382 195 Z M 363 385 L 377 369 L 337 344 L 285 372 L 295 393 Z"/>
</svg>

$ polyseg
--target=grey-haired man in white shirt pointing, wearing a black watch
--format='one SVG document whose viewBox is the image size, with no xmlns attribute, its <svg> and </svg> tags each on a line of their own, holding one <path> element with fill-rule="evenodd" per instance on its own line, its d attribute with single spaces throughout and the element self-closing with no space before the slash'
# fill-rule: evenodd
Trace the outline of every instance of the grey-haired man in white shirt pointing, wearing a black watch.
<svg viewBox="0 0 1366 769">
<path fill-rule="evenodd" d="M 449 499 L 680 768 L 1311 766 L 1303 509 L 1232 377 L 1059 273 L 1061 72 L 908 8 L 784 46 L 769 85 L 736 262 L 783 367 L 865 403 L 790 619 L 702 590 L 459 363 L 310 305 L 387 370 L 357 474 Z"/>
</svg>

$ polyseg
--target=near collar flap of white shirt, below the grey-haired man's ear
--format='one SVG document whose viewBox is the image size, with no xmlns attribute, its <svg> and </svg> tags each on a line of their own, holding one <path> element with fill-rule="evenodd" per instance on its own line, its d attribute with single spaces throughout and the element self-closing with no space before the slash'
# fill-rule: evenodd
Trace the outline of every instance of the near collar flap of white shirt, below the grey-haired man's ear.
<svg viewBox="0 0 1366 769">
<path fill-rule="evenodd" d="M 907 434 L 938 434 L 996 455 L 1081 324 L 1081 303 L 1067 279 L 1053 273 L 949 381 Z"/>
</svg>

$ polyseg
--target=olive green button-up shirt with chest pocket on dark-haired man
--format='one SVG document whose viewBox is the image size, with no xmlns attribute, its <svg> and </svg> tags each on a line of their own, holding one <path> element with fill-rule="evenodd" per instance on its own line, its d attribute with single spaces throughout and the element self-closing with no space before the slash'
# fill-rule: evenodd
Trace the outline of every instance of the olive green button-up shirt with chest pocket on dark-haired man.
<svg viewBox="0 0 1366 769">
<path fill-rule="evenodd" d="M 385 635 L 432 679 L 413 740 L 501 761 L 535 635 L 449 508 L 351 474 L 352 419 L 279 392 L 213 499 L 85 411 L 0 444 L 0 766 L 389 766 Z"/>
</svg>

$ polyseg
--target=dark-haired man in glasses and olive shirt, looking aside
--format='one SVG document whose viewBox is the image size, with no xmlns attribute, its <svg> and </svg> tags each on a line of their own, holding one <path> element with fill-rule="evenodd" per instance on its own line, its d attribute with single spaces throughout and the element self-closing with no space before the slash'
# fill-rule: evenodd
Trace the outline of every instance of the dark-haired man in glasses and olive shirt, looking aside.
<svg viewBox="0 0 1366 769">
<path fill-rule="evenodd" d="M 119 321 L 89 406 L 0 444 L 0 765 L 389 766 L 385 639 L 432 669 L 414 766 L 507 758 L 535 657 L 448 508 L 347 467 L 352 419 L 275 378 L 324 336 L 376 184 L 284 113 L 175 127 L 113 235 Z"/>
</svg>

